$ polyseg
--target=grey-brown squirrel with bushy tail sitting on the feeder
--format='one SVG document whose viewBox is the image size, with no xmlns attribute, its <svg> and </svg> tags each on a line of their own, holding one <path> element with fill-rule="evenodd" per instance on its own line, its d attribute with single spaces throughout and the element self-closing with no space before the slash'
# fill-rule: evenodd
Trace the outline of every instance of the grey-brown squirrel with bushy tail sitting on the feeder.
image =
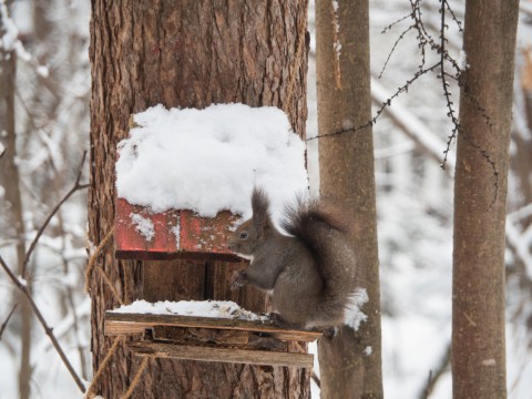
<svg viewBox="0 0 532 399">
<path fill-rule="evenodd" d="M 345 218 L 323 202 L 299 198 L 285 209 L 280 224 L 289 234 L 285 235 L 272 222 L 263 190 L 254 188 L 252 208 L 252 218 L 228 239 L 228 249 L 250 259 L 247 269 L 233 274 L 232 288 L 249 283 L 272 291 L 270 318 L 282 327 L 328 329 L 349 324 L 349 310 L 358 305 L 358 278 Z"/>
</svg>

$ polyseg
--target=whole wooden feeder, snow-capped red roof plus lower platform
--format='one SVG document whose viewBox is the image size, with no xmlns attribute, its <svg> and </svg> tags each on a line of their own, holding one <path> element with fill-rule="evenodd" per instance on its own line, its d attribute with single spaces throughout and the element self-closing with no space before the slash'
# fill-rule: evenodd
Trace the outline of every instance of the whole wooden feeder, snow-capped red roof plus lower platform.
<svg viewBox="0 0 532 399">
<path fill-rule="evenodd" d="M 263 182 L 268 194 L 286 195 L 283 202 L 307 187 L 305 144 L 283 111 L 158 105 L 136 114 L 119 144 L 116 258 L 239 262 L 227 239 Z M 228 287 L 229 278 L 211 283 Z M 320 336 L 270 321 L 113 311 L 104 331 L 131 336 L 137 356 L 303 368 L 313 367 L 305 344 Z"/>
</svg>

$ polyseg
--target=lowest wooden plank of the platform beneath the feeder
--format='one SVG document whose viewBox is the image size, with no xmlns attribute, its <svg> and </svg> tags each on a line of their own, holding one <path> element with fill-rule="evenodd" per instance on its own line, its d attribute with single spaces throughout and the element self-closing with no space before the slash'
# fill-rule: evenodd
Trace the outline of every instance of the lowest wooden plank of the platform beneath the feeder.
<svg viewBox="0 0 532 399">
<path fill-rule="evenodd" d="M 303 368 L 311 368 L 314 365 L 314 356 L 309 354 L 286 354 L 268 350 L 213 348 L 161 342 L 134 342 L 130 344 L 129 347 L 135 355 L 152 355 L 161 358 Z"/>
</svg>

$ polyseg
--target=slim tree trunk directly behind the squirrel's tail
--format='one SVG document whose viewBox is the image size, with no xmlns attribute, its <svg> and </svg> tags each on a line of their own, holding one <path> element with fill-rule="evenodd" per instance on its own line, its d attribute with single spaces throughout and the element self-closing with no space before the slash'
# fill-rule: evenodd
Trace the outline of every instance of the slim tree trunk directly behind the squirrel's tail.
<svg viewBox="0 0 532 399">
<path fill-rule="evenodd" d="M 339 7 L 335 10 L 335 7 Z M 380 289 L 369 71 L 369 4 L 316 1 L 320 195 L 346 204 L 356 223 L 360 286 L 368 316 L 318 345 L 323 398 L 381 398 Z M 370 348 L 370 349 L 367 349 Z M 365 355 L 370 351 L 370 355 Z"/>
</svg>

